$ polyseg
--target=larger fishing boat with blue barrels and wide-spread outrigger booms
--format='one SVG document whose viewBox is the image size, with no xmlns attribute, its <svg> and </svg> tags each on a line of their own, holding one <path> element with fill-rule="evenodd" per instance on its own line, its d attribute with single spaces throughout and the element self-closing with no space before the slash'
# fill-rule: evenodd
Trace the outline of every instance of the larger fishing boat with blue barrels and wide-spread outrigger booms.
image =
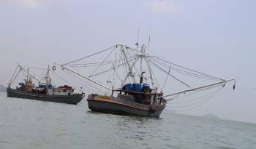
<svg viewBox="0 0 256 149">
<path fill-rule="evenodd" d="M 127 47 L 125 44 L 116 44 L 113 47 L 103 49 L 102 51 L 82 57 L 78 60 L 64 64 L 56 63 L 56 65 L 60 65 L 62 70 L 74 73 L 84 78 L 86 81 L 92 82 L 102 88 L 102 94 L 92 93 L 88 95 L 87 102 L 89 109 L 103 113 L 117 113 L 133 116 L 159 117 L 162 110 L 165 109 L 167 102 L 173 100 L 179 94 L 198 92 L 216 86 L 225 86 L 228 81 L 234 81 L 234 79 L 225 80 L 170 63 L 156 55 L 146 53 L 146 46 L 144 44 L 140 47 L 138 44 L 136 44 L 136 46 L 136 48 L 131 48 Z M 105 52 L 108 52 L 108 54 L 104 54 Z M 105 56 L 105 58 L 97 58 L 95 57 L 96 55 L 102 55 Z M 89 58 L 91 57 L 94 58 L 90 60 Z M 99 59 L 102 61 L 91 63 L 93 60 Z M 82 60 L 87 60 L 87 63 L 78 63 Z M 78 67 L 87 68 L 87 72 L 91 70 L 91 67 L 95 69 L 93 69 L 91 75 L 85 76 L 72 69 Z M 103 70 L 99 70 L 99 68 Z M 215 82 L 192 87 L 171 74 L 170 70 L 185 73 L 197 78 L 214 80 Z M 164 94 L 163 88 L 159 89 L 160 84 L 157 81 L 157 75 L 155 75 L 155 72 L 160 71 L 165 74 L 165 76 L 158 76 L 165 81 L 162 86 L 165 86 L 167 78 L 170 77 L 186 86 L 188 89 L 172 94 Z M 97 80 L 105 76 L 110 76 L 106 78 L 105 83 Z"/>
</svg>

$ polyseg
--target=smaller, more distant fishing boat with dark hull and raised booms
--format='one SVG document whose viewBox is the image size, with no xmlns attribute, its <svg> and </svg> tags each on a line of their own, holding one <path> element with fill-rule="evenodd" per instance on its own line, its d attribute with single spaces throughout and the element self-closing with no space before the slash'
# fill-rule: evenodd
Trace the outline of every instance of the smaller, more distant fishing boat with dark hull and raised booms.
<svg viewBox="0 0 256 149">
<path fill-rule="evenodd" d="M 24 82 L 18 83 L 19 86 L 16 86 L 16 89 L 12 89 L 12 82 L 22 71 L 23 73 L 27 74 L 26 79 L 24 80 Z M 71 86 L 53 86 L 50 81 L 49 71 L 50 69 L 48 68 L 46 76 L 44 77 L 45 82 L 40 82 L 36 77 L 29 73 L 29 68 L 28 70 L 26 70 L 21 65 L 18 65 L 15 69 L 15 73 L 11 78 L 11 81 L 8 82 L 9 85 L 7 87 L 7 97 L 18 97 L 48 102 L 62 102 L 73 105 L 78 104 L 78 102 L 83 99 L 83 97 L 85 96 L 84 93 L 74 93 L 75 89 L 73 89 Z M 35 86 L 32 78 L 38 81 L 38 86 Z"/>
</svg>

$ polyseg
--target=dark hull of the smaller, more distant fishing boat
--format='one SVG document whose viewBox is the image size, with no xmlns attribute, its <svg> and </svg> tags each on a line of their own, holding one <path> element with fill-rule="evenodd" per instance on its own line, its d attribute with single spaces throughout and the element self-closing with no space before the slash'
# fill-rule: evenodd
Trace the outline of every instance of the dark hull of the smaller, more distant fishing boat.
<svg viewBox="0 0 256 149">
<path fill-rule="evenodd" d="M 77 105 L 78 102 L 83 100 L 84 94 L 72 94 L 72 95 L 47 95 L 37 94 L 31 92 L 23 92 L 17 89 L 7 88 L 7 97 L 26 98 L 30 100 L 42 100 L 48 102 L 61 102 L 67 104 Z"/>
</svg>

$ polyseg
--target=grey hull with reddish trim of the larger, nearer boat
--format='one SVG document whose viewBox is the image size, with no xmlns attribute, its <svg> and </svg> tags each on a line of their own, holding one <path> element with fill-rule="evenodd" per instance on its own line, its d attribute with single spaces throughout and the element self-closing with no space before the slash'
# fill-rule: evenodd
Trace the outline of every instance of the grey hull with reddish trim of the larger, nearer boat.
<svg viewBox="0 0 256 149">
<path fill-rule="evenodd" d="M 165 108 L 165 104 L 154 105 L 154 108 L 152 108 L 152 105 L 143 105 L 129 100 L 119 99 L 118 97 L 110 100 L 97 100 L 91 94 L 89 94 L 87 101 L 89 109 L 93 111 L 132 116 L 158 118 Z"/>
</svg>

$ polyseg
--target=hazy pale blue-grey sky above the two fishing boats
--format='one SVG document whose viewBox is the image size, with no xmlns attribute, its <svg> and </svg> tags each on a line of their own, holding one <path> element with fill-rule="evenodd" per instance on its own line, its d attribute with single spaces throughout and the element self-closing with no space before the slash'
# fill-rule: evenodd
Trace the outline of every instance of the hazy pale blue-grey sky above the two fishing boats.
<svg viewBox="0 0 256 149">
<path fill-rule="evenodd" d="M 16 63 L 45 67 L 124 43 L 147 42 L 165 59 L 236 78 L 205 105 L 184 113 L 256 123 L 256 1 L 0 0 L 0 84 Z"/>
</svg>

